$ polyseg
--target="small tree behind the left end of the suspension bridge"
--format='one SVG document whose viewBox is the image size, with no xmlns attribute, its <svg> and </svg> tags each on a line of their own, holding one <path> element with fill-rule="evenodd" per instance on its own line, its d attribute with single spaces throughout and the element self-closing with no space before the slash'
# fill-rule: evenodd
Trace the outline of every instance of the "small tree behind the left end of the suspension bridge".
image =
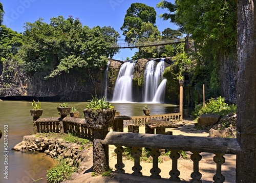
<svg viewBox="0 0 256 183">
<path fill-rule="evenodd" d="M 109 45 L 110 44 L 113 44 L 113 43 L 117 43 L 118 41 L 118 38 L 120 38 L 120 34 L 115 31 L 114 28 L 112 27 L 102 27 L 101 28 L 101 31 L 102 31 L 102 35 L 103 35 L 103 38 L 105 40 L 106 43 L 108 43 Z M 108 49 L 106 50 L 106 57 L 110 57 L 110 58 L 113 58 L 113 56 L 117 53 L 119 53 L 120 49 Z"/>
</svg>

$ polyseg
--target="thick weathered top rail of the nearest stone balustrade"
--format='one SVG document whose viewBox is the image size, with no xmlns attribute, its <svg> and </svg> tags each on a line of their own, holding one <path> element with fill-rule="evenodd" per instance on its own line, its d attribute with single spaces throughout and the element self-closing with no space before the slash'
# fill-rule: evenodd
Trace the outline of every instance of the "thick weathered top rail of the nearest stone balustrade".
<svg viewBox="0 0 256 183">
<path fill-rule="evenodd" d="M 241 151 L 237 139 L 231 138 L 124 132 L 109 132 L 102 144 L 226 154 L 238 154 Z"/>
</svg>

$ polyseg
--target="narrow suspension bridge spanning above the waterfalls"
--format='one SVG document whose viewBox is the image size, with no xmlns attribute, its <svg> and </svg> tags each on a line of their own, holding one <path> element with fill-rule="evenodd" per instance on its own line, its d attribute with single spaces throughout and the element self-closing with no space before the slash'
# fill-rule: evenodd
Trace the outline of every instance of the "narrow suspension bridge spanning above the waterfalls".
<svg viewBox="0 0 256 183">
<path fill-rule="evenodd" d="M 185 42 L 186 38 L 171 38 L 171 39 L 161 39 L 161 40 L 155 40 L 155 41 L 140 41 L 136 43 L 127 43 L 125 42 L 124 39 L 118 39 L 117 43 L 110 44 L 110 49 L 142 48 L 142 47 L 154 47 L 154 46 L 166 45 L 166 44 L 178 44 L 181 42 Z"/>
</svg>

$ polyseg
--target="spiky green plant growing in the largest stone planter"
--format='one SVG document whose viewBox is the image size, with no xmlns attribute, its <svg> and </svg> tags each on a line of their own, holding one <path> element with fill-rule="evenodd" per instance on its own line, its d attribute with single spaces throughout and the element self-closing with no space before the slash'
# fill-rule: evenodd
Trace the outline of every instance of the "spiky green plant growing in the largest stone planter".
<svg viewBox="0 0 256 183">
<path fill-rule="evenodd" d="M 90 103 L 86 106 L 87 109 L 112 109 L 114 106 L 112 106 L 109 102 L 105 100 L 105 97 L 102 99 L 98 99 L 97 96 L 93 97 L 92 100 L 89 100 Z"/>
</svg>

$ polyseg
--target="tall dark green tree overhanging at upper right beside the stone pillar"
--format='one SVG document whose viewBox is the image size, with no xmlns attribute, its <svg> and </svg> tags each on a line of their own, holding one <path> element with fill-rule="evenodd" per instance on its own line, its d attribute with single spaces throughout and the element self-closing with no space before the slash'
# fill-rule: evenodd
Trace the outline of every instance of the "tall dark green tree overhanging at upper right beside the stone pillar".
<svg viewBox="0 0 256 183">
<path fill-rule="evenodd" d="M 196 87 L 207 83 L 207 97 L 219 96 L 220 65 L 225 62 L 222 59 L 236 51 L 236 1 L 176 0 L 174 4 L 161 1 L 157 7 L 167 9 L 168 13 L 161 17 L 176 24 L 182 33 L 189 34 L 194 40 L 197 70 L 208 72 L 204 77 L 195 72 Z M 236 65 L 236 60 L 232 65 Z"/>
</svg>

